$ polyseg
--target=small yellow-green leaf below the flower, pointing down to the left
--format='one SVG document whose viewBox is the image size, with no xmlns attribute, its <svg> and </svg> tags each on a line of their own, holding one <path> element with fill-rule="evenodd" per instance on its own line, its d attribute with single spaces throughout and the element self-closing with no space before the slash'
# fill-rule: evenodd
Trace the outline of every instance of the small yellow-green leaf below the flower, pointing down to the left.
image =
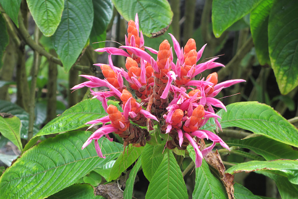
<svg viewBox="0 0 298 199">
<path fill-rule="evenodd" d="M 129 145 L 125 151 L 119 155 L 110 172 L 109 181 L 116 180 L 123 171 L 132 165 L 141 155 L 144 147 Z"/>
</svg>

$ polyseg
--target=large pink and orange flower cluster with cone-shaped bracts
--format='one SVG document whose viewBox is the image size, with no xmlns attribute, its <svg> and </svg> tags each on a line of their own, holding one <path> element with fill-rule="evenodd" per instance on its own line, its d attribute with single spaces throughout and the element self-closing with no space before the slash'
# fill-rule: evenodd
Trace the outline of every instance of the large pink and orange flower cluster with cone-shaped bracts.
<svg viewBox="0 0 298 199">
<path fill-rule="evenodd" d="M 199 51 L 196 49 L 195 40 L 189 39 L 184 48 L 173 35 L 174 51 L 177 61 L 173 62 L 172 48 L 167 40 L 164 40 L 158 51 L 144 46 L 142 31 L 139 31 L 139 20 L 128 23 L 128 36 L 125 37 L 126 45 L 120 48 L 101 48 L 97 52 L 109 53 L 109 65 L 100 66 L 105 79 L 99 79 L 90 75 L 81 75 L 89 81 L 74 86 L 72 89 L 89 87 L 91 94 L 102 102 L 107 116 L 88 122 L 91 127 L 98 123 L 103 126 L 97 129 L 83 144 L 86 147 L 92 139 L 95 140 L 95 148 L 99 157 L 101 153 L 98 139 L 109 133 L 117 133 L 124 140 L 124 146 L 144 146 L 150 139 L 149 131 L 152 124 L 159 122 L 161 133 L 168 133 L 169 140 L 166 147 L 185 150 L 191 144 L 196 153 L 196 167 L 200 167 L 203 157 L 209 153 L 216 143 L 224 148 L 228 146 L 215 133 L 201 130 L 210 118 L 213 118 L 217 128 L 221 129 L 218 122 L 220 118 L 215 114 L 213 107 L 223 108 L 224 104 L 214 98 L 223 89 L 233 84 L 242 82 L 242 79 L 228 80 L 218 83 L 216 72 L 207 76 L 206 80 L 195 80 L 195 76 L 206 69 L 224 66 L 216 63 L 218 58 L 197 64 L 201 59 L 205 46 Z M 157 54 L 154 60 L 146 51 Z M 111 55 L 125 56 L 127 69 L 113 66 Z M 124 86 L 124 77 L 131 90 L 139 100 L 135 99 L 131 92 Z M 93 91 L 94 87 L 107 87 L 103 91 Z M 123 112 L 114 105 L 107 104 L 109 97 L 115 97 L 121 104 Z M 131 123 L 131 121 L 133 123 Z M 109 124 L 108 124 L 109 123 Z M 140 127 L 147 127 L 140 128 Z M 212 145 L 205 147 L 204 138 L 213 141 Z"/>
</svg>

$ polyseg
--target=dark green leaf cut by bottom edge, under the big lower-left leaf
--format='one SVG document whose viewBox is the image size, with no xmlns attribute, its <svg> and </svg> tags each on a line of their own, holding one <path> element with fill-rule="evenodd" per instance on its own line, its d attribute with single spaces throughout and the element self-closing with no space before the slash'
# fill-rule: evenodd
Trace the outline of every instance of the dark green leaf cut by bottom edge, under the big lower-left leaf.
<svg viewBox="0 0 298 199">
<path fill-rule="evenodd" d="M 88 184 L 75 184 L 47 199 L 103 199 L 101 196 L 94 196 L 93 192 L 93 187 Z"/>
</svg>

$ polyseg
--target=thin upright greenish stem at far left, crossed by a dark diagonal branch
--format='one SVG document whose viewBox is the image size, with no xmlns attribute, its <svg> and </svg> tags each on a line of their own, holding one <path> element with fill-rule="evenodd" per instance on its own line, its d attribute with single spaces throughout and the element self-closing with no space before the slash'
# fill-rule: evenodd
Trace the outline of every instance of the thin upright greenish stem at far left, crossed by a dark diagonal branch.
<svg viewBox="0 0 298 199">
<path fill-rule="evenodd" d="M 34 30 L 34 40 L 36 43 L 39 41 L 39 29 L 35 26 Z M 36 88 L 36 80 L 37 74 L 40 66 L 40 56 L 39 53 L 34 51 L 34 58 L 33 58 L 33 66 L 31 70 L 31 86 L 30 86 L 30 101 L 29 101 L 29 125 L 28 125 L 28 139 L 27 142 L 33 137 L 33 126 L 35 120 L 35 88 Z"/>
</svg>

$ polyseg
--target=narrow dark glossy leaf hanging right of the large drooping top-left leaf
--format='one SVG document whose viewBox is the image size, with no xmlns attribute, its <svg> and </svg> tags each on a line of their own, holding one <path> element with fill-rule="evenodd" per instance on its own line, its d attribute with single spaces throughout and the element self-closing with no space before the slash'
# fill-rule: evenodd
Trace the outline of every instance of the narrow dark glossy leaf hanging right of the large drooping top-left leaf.
<svg viewBox="0 0 298 199">
<path fill-rule="evenodd" d="M 110 0 L 92 0 L 94 20 L 90 33 L 90 43 L 105 41 L 106 29 L 113 15 L 113 4 Z M 105 47 L 105 43 L 91 44 L 94 49 Z"/>
</svg>

